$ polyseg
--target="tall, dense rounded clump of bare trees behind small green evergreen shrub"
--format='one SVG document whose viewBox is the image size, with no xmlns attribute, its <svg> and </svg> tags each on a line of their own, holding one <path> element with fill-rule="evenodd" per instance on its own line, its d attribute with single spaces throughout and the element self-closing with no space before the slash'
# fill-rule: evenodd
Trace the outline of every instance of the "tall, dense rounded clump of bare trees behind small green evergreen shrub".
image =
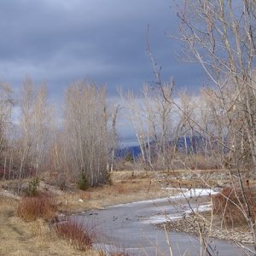
<svg viewBox="0 0 256 256">
<path fill-rule="evenodd" d="M 105 89 L 95 83 L 77 81 L 65 97 L 67 151 L 74 174 L 86 175 L 91 186 L 108 177 L 109 128 Z"/>
</svg>

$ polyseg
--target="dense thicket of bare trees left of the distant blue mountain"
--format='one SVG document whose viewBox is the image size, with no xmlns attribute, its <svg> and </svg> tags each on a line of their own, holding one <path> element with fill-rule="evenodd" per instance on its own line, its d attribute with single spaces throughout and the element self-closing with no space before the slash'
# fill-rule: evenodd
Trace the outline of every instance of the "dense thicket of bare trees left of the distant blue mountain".
<svg viewBox="0 0 256 256">
<path fill-rule="evenodd" d="M 60 185 L 79 178 L 89 186 L 108 181 L 118 108 L 107 104 L 103 87 L 77 81 L 67 88 L 63 109 L 60 127 L 46 84 L 24 79 L 17 100 L 1 84 L 1 178 L 18 179 L 20 187 L 24 178 L 45 173 Z"/>
</svg>

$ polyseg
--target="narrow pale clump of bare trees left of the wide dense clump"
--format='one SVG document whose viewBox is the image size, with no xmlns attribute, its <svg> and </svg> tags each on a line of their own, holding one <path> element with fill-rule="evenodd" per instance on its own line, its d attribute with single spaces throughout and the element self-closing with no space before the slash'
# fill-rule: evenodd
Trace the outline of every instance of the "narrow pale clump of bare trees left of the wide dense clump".
<svg viewBox="0 0 256 256">
<path fill-rule="evenodd" d="M 52 120 L 53 109 L 47 100 L 46 85 L 43 83 L 37 87 L 32 79 L 26 77 L 21 88 L 20 124 L 16 132 L 20 159 L 19 179 L 23 177 L 24 171 L 34 172 L 38 176 L 39 171 L 44 170 Z"/>
</svg>

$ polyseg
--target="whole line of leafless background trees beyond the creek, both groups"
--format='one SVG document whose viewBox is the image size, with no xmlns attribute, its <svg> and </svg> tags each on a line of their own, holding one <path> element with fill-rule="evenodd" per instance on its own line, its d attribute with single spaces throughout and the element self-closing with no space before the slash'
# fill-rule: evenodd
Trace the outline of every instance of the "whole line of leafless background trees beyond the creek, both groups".
<svg viewBox="0 0 256 256">
<path fill-rule="evenodd" d="M 90 186 L 106 182 L 117 160 L 120 106 L 107 102 L 104 87 L 76 81 L 68 86 L 62 112 L 56 114 L 46 87 L 26 78 L 15 99 L 10 87 L 1 84 L 1 177 L 22 184 L 23 178 L 47 173 L 61 186 L 81 177 Z M 131 119 L 141 148 L 141 167 L 224 166 L 227 143 L 218 145 L 209 136 L 218 131 L 218 140 L 226 139 L 224 121 L 214 117 L 221 105 L 212 97 L 212 90 L 202 90 L 200 96 L 174 95 L 172 83 L 163 84 L 161 90 L 145 85 L 141 95 L 128 93 L 122 99 L 122 107 L 129 110 L 125 118 Z M 57 123 L 60 116 L 61 125 Z M 195 137 L 204 140 L 193 142 Z"/>
</svg>

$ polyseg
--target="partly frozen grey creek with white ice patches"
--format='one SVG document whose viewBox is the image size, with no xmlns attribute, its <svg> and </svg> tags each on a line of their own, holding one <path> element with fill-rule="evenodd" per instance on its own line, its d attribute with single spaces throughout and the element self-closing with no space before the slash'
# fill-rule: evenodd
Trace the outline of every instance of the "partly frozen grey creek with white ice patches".
<svg viewBox="0 0 256 256">
<path fill-rule="evenodd" d="M 201 195 L 199 211 L 207 209 L 207 194 L 213 191 L 198 189 L 190 196 Z M 187 214 L 189 207 L 182 200 L 183 195 L 166 199 L 140 201 L 106 207 L 104 210 L 82 212 L 71 218 L 83 222 L 97 234 L 96 247 L 103 247 L 109 253 L 119 251 L 129 255 L 200 255 L 200 241 L 195 236 L 180 232 L 165 232 L 154 224 L 166 219 Z M 173 202 L 179 201 L 179 207 Z M 234 243 L 209 239 L 212 255 L 245 255 Z M 170 253 L 170 244 L 172 254 Z M 248 252 L 247 252 L 248 253 Z M 249 254 L 250 255 L 250 254 Z M 252 253 L 253 255 L 253 253 Z"/>
</svg>

